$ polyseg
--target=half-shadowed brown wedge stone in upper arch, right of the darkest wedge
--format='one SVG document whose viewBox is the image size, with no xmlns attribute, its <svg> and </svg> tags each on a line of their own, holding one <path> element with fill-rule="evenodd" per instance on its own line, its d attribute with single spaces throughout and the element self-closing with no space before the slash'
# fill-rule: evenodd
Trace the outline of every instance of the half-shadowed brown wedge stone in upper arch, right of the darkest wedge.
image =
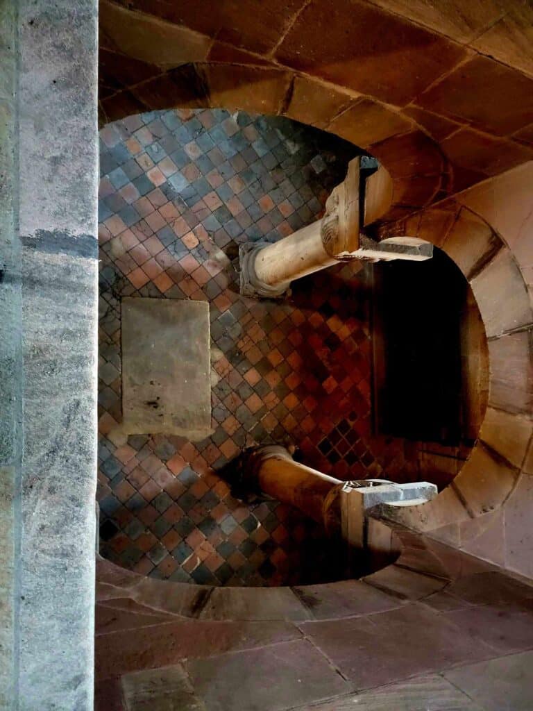
<svg viewBox="0 0 533 711">
<path fill-rule="evenodd" d="M 215 64 L 205 71 L 212 107 L 279 114 L 289 88 L 289 75 L 280 70 Z"/>
</svg>

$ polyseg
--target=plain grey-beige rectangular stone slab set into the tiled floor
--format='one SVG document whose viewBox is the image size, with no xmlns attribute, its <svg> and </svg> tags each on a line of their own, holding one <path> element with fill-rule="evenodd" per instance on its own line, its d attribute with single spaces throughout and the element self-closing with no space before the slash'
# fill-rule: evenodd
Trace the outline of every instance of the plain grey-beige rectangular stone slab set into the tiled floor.
<svg viewBox="0 0 533 711">
<path fill-rule="evenodd" d="M 126 434 L 211 433 L 205 301 L 122 299 L 122 413 Z"/>
</svg>

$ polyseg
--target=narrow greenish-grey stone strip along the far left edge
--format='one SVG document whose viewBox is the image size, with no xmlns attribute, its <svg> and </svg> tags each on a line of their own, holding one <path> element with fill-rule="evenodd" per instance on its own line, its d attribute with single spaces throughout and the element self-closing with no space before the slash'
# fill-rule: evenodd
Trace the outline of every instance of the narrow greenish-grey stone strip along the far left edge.
<svg viewBox="0 0 533 711">
<path fill-rule="evenodd" d="M 21 245 L 16 234 L 16 3 L 0 6 L 0 707 L 15 704 L 21 474 Z M 18 519 L 18 521 L 17 521 Z"/>
</svg>

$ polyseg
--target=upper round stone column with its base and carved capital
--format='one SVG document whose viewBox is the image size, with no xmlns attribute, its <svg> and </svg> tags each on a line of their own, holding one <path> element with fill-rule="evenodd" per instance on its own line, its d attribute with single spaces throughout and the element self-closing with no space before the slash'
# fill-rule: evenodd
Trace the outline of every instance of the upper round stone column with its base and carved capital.
<svg viewBox="0 0 533 711">
<path fill-rule="evenodd" d="M 364 195 L 362 205 L 361 195 Z M 386 213 L 391 202 L 392 179 L 388 171 L 379 166 L 365 180 L 360 173 L 360 159 L 353 159 L 345 181 L 328 198 L 321 220 L 274 244 L 241 245 L 241 293 L 276 299 L 289 292 L 294 279 L 352 259 L 372 262 L 429 259 L 433 247 L 423 240 L 392 237 L 375 242 L 360 232 L 361 226 Z"/>
</svg>

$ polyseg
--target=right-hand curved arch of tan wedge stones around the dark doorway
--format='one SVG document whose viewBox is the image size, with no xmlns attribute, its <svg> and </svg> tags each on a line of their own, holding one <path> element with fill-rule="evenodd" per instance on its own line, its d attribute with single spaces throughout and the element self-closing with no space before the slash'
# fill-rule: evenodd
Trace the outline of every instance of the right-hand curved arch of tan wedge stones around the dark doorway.
<svg viewBox="0 0 533 711">
<path fill-rule="evenodd" d="M 519 188 L 516 177 L 514 187 Z M 458 264 L 478 303 L 489 351 L 488 408 L 478 442 L 458 476 L 433 501 L 389 509 L 386 515 L 499 565 L 508 564 L 511 554 L 511 567 L 527 574 L 529 541 L 524 537 L 517 545 L 514 539 L 512 550 L 505 550 L 504 530 L 507 505 L 517 487 L 524 485 L 529 492 L 532 472 L 533 311 L 517 258 L 475 211 L 477 196 L 486 189 L 473 188 L 385 230 L 434 242 Z"/>
</svg>

